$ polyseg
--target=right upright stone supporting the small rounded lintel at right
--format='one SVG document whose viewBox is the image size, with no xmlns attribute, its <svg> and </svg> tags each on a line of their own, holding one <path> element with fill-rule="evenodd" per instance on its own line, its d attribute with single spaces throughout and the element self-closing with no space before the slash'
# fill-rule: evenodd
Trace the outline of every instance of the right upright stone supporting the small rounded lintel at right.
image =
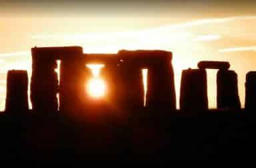
<svg viewBox="0 0 256 168">
<path fill-rule="evenodd" d="M 217 108 L 240 109 L 237 74 L 233 70 L 217 72 Z"/>
</svg>

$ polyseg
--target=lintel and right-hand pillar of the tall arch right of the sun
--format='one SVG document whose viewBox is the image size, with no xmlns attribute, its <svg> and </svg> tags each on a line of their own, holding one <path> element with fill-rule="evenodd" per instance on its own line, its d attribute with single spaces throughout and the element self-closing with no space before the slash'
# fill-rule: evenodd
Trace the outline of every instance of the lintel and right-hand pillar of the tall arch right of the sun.
<svg viewBox="0 0 256 168">
<path fill-rule="evenodd" d="M 165 111 L 176 109 L 171 52 L 165 50 L 120 50 L 118 54 L 122 61 L 121 66 L 127 66 L 129 74 L 133 74 L 132 70 L 136 66 L 139 70 L 134 74 L 142 74 L 139 71 L 143 68 L 148 69 L 147 106 L 149 108 L 162 108 Z"/>
</svg>

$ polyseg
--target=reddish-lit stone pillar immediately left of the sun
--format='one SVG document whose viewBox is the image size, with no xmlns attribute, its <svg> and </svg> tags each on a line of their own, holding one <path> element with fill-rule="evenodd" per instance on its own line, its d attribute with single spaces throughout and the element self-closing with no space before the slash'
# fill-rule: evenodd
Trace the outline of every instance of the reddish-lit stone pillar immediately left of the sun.
<svg viewBox="0 0 256 168">
<path fill-rule="evenodd" d="M 71 114 L 81 113 L 86 102 L 85 77 L 91 74 L 85 67 L 82 55 L 70 55 L 61 60 L 59 110 Z"/>
</svg>

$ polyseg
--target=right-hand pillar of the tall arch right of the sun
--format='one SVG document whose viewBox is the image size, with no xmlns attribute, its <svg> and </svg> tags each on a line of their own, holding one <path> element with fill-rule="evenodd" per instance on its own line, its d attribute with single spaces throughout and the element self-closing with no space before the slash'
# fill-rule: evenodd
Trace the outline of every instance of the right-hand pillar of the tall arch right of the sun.
<svg viewBox="0 0 256 168">
<path fill-rule="evenodd" d="M 155 55 L 147 74 L 147 107 L 151 110 L 176 110 L 174 72 L 171 52 Z"/>
</svg>

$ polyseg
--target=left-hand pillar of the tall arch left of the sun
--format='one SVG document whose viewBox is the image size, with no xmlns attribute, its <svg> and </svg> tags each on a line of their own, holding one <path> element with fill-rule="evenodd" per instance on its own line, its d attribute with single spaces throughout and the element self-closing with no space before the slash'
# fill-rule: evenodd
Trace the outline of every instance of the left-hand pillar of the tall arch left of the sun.
<svg viewBox="0 0 256 168">
<path fill-rule="evenodd" d="M 33 53 L 31 76 L 31 103 L 36 112 L 56 112 L 58 108 L 57 62 Z M 47 55 L 45 55 L 46 57 Z"/>
</svg>

